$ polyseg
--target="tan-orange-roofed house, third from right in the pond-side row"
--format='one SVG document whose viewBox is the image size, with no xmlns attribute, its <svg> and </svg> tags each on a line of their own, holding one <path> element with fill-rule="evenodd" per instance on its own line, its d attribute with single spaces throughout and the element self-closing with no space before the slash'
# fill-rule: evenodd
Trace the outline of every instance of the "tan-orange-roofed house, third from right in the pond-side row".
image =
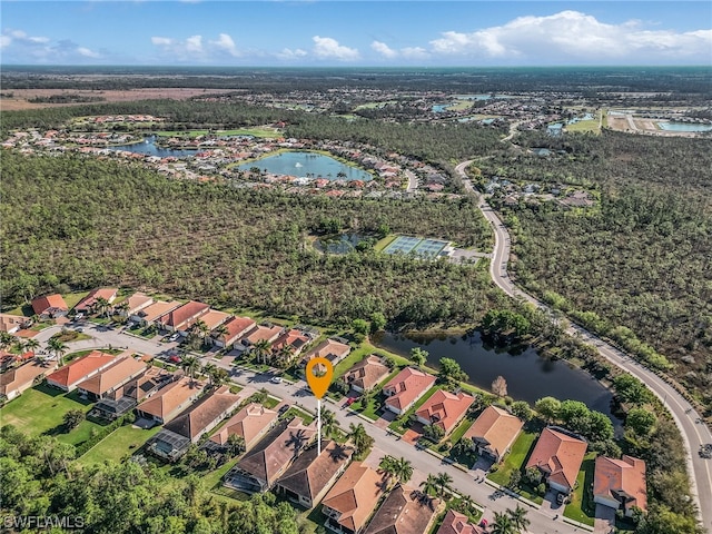
<svg viewBox="0 0 712 534">
<path fill-rule="evenodd" d="M 478 454 L 501 462 L 522 432 L 524 422 L 498 406 L 487 406 L 463 437 L 473 441 Z"/>
</svg>

